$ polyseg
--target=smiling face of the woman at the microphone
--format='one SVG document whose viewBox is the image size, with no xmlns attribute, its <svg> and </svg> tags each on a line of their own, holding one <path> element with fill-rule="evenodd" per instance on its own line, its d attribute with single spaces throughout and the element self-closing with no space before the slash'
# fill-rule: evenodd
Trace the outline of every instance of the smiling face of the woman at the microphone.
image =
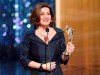
<svg viewBox="0 0 100 75">
<path fill-rule="evenodd" d="M 47 7 L 41 8 L 40 11 L 40 25 L 49 25 L 51 22 L 50 10 Z"/>
</svg>

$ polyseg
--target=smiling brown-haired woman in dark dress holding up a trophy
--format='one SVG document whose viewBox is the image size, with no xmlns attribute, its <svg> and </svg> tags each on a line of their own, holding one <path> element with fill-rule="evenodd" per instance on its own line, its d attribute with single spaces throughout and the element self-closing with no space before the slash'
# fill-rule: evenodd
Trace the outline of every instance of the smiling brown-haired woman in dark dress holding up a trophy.
<svg viewBox="0 0 100 75">
<path fill-rule="evenodd" d="M 33 9 L 30 22 L 35 30 L 20 45 L 20 61 L 31 75 L 63 75 L 60 64 L 67 64 L 74 45 L 65 45 L 63 31 L 54 26 L 55 15 L 47 3 Z"/>
</svg>

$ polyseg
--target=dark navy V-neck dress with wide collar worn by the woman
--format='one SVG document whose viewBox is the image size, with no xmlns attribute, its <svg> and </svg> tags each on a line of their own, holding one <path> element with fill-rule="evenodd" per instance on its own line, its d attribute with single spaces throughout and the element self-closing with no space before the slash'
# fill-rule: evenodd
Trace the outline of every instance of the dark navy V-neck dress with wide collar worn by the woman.
<svg viewBox="0 0 100 75">
<path fill-rule="evenodd" d="M 20 61 L 24 67 L 29 69 L 30 75 L 63 75 L 60 64 L 67 64 L 69 59 L 66 61 L 61 59 L 62 53 L 66 49 L 65 38 L 61 29 L 53 28 L 57 33 L 48 45 L 35 35 L 35 31 L 27 34 L 20 44 Z M 32 60 L 38 63 L 56 62 L 56 68 L 52 72 L 29 68 L 28 64 Z"/>
</svg>

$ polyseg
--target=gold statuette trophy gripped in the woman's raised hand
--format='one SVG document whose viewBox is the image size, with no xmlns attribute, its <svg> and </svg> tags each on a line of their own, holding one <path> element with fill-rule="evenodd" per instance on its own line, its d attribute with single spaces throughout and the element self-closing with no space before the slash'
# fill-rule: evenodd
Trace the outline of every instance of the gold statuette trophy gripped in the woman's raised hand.
<svg viewBox="0 0 100 75">
<path fill-rule="evenodd" d="M 73 42 L 73 36 L 74 36 L 74 30 L 67 25 L 66 26 L 66 33 L 68 34 L 68 41 L 72 43 Z M 71 53 L 64 51 L 63 54 L 69 56 Z"/>
</svg>

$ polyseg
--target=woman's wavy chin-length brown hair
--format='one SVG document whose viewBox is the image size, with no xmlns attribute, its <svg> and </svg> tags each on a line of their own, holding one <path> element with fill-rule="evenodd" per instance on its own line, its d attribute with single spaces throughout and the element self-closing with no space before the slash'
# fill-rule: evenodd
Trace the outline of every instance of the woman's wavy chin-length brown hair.
<svg viewBox="0 0 100 75">
<path fill-rule="evenodd" d="M 51 22 L 49 26 L 55 25 L 55 14 L 52 10 L 52 8 L 47 4 L 47 3 L 38 3 L 36 7 L 32 10 L 32 14 L 29 17 L 31 24 L 34 26 L 34 28 L 38 28 L 40 25 L 40 10 L 43 7 L 47 7 L 50 10 L 50 15 L 51 15 Z"/>
</svg>

